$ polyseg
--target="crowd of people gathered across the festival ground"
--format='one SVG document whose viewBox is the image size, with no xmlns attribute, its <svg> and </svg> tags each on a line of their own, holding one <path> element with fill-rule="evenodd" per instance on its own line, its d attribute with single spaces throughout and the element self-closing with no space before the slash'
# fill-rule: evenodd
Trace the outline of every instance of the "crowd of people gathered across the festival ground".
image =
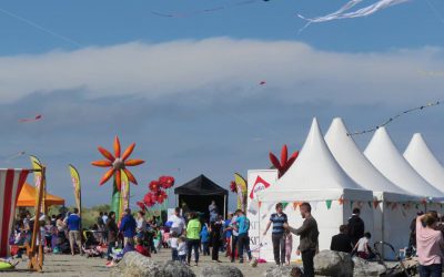
<svg viewBox="0 0 444 277">
<path fill-rule="evenodd" d="M 275 205 L 276 213 L 270 216 L 265 230 L 266 236 L 272 226 L 273 254 L 276 265 L 290 264 L 293 247 L 292 235 L 300 236 L 296 254 L 302 257 L 304 276 L 314 276 L 313 258 L 319 252 L 317 223 L 311 214 L 311 205 L 300 205 L 301 216 L 304 219 L 299 228 L 289 225 L 287 216 L 283 213 L 283 205 Z M 162 248 L 171 252 L 171 259 L 185 265 L 199 265 L 200 255 L 210 256 L 214 263 L 221 263 L 219 255 L 224 255 L 231 263 L 244 263 L 252 259 L 250 249 L 250 220 L 241 209 L 229 213 L 226 218 L 219 214 L 213 202 L 209 207 L 209 217 L 195 212 L 182 213 L 180 207 L 162 223 L 159 217 L 145 218 L 143 211 L 135 217 L 131 209 L 125 209 L 121 222 L 115 222 L 114 212 L 103 212 L 90 230 L 81 229 L 79 211 L 59 214 L 51 217 L 46 215 L 40 218 L 31 217 L 29 212 L 20 214 L 16 220 L 14 232 L 10 244 L 16 246 L 13 254 L 23 255 L 24 248 L 30 244 L 31 233 L 36 220 L 39 222 L 41 239 L 46 249 L 52 253 L 83 255 L 94 242 L 107 249 L 108 265 L 112 266 L 113 249 L 122 248 L 127 252 L 139 252 L 144 256 L 159 253 Z M 331 250 L 357 255 L 363 259 L 372 259 L 374 253 L 370 240 L 371 234 L 365 232 L 365 223 L 360 217 L 360 209 L 354 208 L 353 215 L 346 225 L 340 226 L 340 233 L 332 237 Z M 436 212 L 418 213 L 412 222 L 410 255 L 417 255 L 420 260 L 420 276 L 441 276 L 444 250 L 444 226 L 438 224 Z M 82 243 L 83 242 L 83 243 Z M 413 253 L 414 252 L 414 253 Z"/>
</svg>

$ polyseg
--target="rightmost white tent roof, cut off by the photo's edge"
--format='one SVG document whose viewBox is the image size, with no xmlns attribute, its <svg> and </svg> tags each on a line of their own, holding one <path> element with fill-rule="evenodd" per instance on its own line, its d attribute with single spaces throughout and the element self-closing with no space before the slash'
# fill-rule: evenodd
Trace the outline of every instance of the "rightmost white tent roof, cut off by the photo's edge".
<svg viewBox="0 0 444 277">
<path fill-rule="evenodd" d="M 413 135 L 404 152 L 404 157 L 425 181 L 444 192 L 444 167 L 420 133 Z"/>
</svg>

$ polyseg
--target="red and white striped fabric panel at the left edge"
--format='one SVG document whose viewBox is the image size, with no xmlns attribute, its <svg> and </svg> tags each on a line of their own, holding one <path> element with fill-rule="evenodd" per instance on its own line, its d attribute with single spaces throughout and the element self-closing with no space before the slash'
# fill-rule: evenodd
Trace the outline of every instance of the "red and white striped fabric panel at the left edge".
<svg viewBox="0 0 444 277">
<path fill-rule="evenodd" d="M 9 256 L 16 204 L 29 170 L 0 168 L 0 257 Z"/>
</svg>

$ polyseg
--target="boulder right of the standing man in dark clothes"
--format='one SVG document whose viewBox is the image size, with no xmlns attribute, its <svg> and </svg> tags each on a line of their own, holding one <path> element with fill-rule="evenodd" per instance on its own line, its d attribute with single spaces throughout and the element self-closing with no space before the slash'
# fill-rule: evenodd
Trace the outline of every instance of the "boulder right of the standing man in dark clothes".
<svg viewBox="0 0 444 277">
<path fill-rule="evenodd" d="M 320 276 L 353 276 L 352 257 L 343 252 L 322 250 L 314 256 L 314 271 Z"/>
</svg>

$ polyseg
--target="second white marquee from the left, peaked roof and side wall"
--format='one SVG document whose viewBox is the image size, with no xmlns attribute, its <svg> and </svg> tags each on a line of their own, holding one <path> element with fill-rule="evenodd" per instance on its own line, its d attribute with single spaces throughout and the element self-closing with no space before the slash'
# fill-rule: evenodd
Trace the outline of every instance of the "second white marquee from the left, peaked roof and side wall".
<svg viewBox="0 0 444 277">
<path fill-rule="evenodd" d="M 410 219 L 414 218 L 417 211 L 413 205 L 412 208 L 405 209 L 401 205 L 392 208 L 387 204 L 418 202 L 420 196 L 412 195 L 384 177 L 347 133 L 342 119 L 334 119 L 325 134 L 325 142 L 345 173 L 362 187 L 373 191 L 373 196 L 377 201 L 374 203 L 377 206 L 374 207 L 373 240 L 387 242 L 395 249 L 406 247 L 410 237 Z M 387 258 L 393 258 L 391 253 L 385 254 Z"/>
</svg>

